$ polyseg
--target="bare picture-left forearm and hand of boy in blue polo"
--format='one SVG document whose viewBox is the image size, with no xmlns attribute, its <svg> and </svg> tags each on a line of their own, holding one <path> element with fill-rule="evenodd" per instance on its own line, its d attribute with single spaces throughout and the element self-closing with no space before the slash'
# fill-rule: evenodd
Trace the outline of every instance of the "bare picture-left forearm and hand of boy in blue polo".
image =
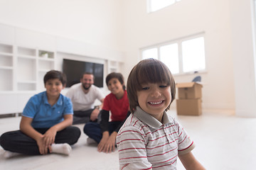
<svg viewBox="0 0 256 170">
<path fill-rule="evenodd" d="M 33 118 L 27 118 L 25 116 L 22 116 L 21 123 L 20 123 L 20 130 L 24 134 L 36 140 L 40 154 L 47 154 L 48 147 L 43 143 L 43 135 L 40 132 L 36 131 L 31 126 L 32 120 Z"/>
</svg>

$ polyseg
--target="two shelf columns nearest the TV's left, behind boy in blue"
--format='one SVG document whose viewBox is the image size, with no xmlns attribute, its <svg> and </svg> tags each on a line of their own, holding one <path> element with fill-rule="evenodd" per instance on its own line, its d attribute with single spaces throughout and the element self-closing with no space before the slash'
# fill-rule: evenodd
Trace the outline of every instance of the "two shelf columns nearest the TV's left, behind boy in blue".
<svg viewBox="0 0 256 170">
<path fill-rule="evenodd" d="M 55 69 L 55 52 L 17 47 L 17 91 L 43 91 L 43 77 Z"/>
</svg>

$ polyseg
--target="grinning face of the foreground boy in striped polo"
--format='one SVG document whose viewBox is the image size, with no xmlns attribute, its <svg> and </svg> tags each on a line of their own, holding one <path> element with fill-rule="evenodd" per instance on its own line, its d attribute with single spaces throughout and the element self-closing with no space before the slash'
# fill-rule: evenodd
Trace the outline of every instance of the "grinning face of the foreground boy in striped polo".
<svg viewBox="0 0 256 170">
<path fill-rule="evenodd" d="M 143 84 L 137 91 L 139 106 L 161 122 L 164 111 L 171 103 L 171 88 L 166 84 Z"/>
</svg>

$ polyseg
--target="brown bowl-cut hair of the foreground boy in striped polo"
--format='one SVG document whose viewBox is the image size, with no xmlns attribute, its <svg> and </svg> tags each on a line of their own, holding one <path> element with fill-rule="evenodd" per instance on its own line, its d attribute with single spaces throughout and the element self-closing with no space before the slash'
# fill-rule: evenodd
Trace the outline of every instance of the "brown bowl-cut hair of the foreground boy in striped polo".
<svg viewBox="0 0 256 170">
<path fill-rule="evenodd" d="M 135 65 L 127 79 L 127 94 L 129 99 L 129 108 L 132 113 L 139 106 L 137 91 L 142 90 L 142 84 L 161 83 L 171 86 L 171 103 L 174 101 L 176 86 L 174 77 L 163 62 L 155 59 L 146 59 Z M 169 110 L 171 103 L 166 108 Z"/>
</svg>

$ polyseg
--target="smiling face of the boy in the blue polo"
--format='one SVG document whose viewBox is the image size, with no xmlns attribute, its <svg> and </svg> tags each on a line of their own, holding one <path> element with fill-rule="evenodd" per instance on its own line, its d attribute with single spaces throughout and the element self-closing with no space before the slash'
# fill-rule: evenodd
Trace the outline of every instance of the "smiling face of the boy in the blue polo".
<svg viewBox="0 0 256 170">
<path fill-rule="evenodd" d="M 59 96 L 63 89 L 63 84 L 59 79 L 49 79 L 45 84 L 46 93 L 48 96 Z"/>
</svg>

